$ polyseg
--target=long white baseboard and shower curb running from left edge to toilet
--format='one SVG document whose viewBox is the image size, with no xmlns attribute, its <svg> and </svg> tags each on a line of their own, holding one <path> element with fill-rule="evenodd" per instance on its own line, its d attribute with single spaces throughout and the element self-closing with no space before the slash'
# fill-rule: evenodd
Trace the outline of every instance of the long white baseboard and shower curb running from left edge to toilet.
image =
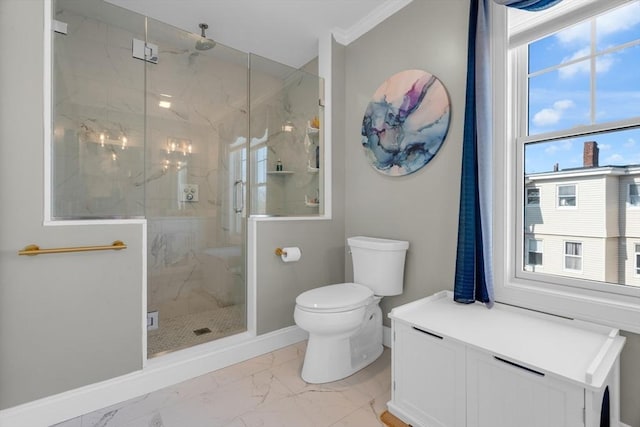
<svg viewBox="0 0 640 427">
<path fill-rule="evenodd" d="M 297 326 L 243 333 L 150 359 L 136 372 L 0 411 L 2 427 L 48 427 L 307 339 Z"/>
</svg>

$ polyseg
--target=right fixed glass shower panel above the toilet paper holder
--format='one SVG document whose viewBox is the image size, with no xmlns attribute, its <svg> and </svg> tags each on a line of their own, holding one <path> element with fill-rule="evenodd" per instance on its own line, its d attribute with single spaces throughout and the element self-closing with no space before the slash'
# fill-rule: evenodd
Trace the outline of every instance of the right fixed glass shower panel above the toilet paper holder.
<svg viewBox="0 0 640 427">
<path fill-rule="evenodd" d="M 320 134 L 309 128 L 317 117 L 320 78 L 272 61 L 251 56 L 251 136 L 268 130 L 266 189 L 261 203 L 253 201 L 253 214 L 282 216 L 317 215 L 321 199 L 321 168 L 316 168 Z M 284 125 L 291 127 L 284 130 Z M 318 150 L 322 152 L 321 147 Z M 280 160 L 283 173 L 278 173 Z M 261 179 L 260 173 L 255 180 Z M 306 199 L 305 199 L 306 196 Z M 305 203 L 305 200 L 308 202 Z"/>
</svg>

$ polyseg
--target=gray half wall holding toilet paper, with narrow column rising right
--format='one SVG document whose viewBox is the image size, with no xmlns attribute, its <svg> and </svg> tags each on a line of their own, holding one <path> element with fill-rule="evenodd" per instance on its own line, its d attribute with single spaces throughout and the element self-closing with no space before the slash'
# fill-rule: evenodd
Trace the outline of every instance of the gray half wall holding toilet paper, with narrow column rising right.
<svg viewBox="0 0 640 427">
<path fill-rule="evenodd" d="M 272 221 L 257 224 L 258 334 L 292 326 L 296 297 L 309 289 L 344 281 L 344 46 L 333 43 L 334 79 L 331 220 Z M 328 89 L 327 89 L 328 90 Z M 277 247 L 298 246 L 302 258 L 283 263 Z"/>
</svg>

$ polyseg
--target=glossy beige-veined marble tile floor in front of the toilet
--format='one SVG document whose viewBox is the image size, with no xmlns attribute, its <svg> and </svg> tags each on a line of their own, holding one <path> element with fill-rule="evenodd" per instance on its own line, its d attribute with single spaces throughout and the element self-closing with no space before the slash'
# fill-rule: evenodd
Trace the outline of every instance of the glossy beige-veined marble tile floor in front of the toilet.
<svg viewBox="0 0 640 427">
<path fill-rule="evenodd" d="M 391 351 L 328 384 L 300 378 L 306 341 L 55 427 L 378 427 L 391 398 Z"/>
</svg>

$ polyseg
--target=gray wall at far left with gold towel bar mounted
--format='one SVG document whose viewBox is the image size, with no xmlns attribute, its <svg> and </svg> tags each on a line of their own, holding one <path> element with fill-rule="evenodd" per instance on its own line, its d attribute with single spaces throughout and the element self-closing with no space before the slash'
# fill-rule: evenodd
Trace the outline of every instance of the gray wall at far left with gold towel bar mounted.
<svg viewBox="0 0 640 427">
<path fill-rule="evenodd" d="M 42 225 L 43 19 L 42 1 L 0 1 L 0 409 L 142 367 L 142 226 Z"/>
</svg>

